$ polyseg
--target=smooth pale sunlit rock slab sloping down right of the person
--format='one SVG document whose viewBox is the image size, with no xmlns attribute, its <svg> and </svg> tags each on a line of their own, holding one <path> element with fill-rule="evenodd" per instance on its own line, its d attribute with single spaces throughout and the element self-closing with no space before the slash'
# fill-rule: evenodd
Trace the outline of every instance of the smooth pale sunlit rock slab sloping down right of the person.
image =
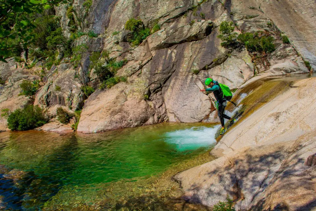
<svg viewBox="0 0 316 211">
<path fill-rule="evenodd" d="M 213 152 L 229 154 L 245 146 L 296 140 L 316 129 L 316 78 L 295 82 L 289 90 L 268 102 L 228 131 Z"/>
</svg>

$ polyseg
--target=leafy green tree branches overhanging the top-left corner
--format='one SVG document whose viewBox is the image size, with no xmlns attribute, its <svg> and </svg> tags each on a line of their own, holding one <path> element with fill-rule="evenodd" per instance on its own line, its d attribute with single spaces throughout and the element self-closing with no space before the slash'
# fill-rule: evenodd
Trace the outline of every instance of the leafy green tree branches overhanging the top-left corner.
<svg viewBox="0 0 316 211">
<path fill-rule="evenodd" d="M 68 0 L 5 0 L 0 1 L 0 60 L 20 56 L 36 41 L 34 22 L 37 14 Z"/>
</svg>

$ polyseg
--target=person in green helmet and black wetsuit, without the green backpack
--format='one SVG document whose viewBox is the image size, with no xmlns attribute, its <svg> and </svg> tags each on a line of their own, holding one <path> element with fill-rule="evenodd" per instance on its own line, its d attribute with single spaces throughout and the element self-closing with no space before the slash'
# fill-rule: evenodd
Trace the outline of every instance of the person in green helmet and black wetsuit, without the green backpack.
<svg viewBox="0 0 316 211">
<path fill-rule="evenodd" d="M 221 121 L 222 129 L 220 131 L 220 134 L 224 134 L 226 131 L 226 127 L 224 124 L 224 118 L 231 120 L 232 118 L 226 114 L 224 114 L 225 107 L 227 106 L 227 101 L 223 99 L 223 93 L 221 90 L 221 87 L 219 86 L 217 81 L 214 81 L 212 78 L 206 78 L 205 80 L 205 85 L 208 86 L 209 88 L 205 90 L 200 90 L 200 91 L 211 91 L 213 92 L 215 98 L 216 98 L 216 104 L 217 104 L 217 115 Z M 236 120 L 233 119 L 230 124 L 233 124 Z"/>
</svg>

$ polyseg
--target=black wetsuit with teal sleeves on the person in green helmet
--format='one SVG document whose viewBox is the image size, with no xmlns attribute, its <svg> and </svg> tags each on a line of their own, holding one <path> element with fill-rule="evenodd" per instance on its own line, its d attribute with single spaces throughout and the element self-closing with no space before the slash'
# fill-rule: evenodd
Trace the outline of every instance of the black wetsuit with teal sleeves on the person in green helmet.
<svg viewBox="0 0 316 211">
<path fill-rule="evenodd" d="M 224 110 L 226 107 L 226 100 L 223 99 L 223 97 L 222 97 L 223 93 L 222 93 L 221 87 L 219 86 L 217 81 L 214 81 L 214 85 L 211 88 L 207 88 L 206 91 L 213 92 L 213 94 L 217 100 L 217 103 L 218 103 L 217 114 L 218 114 L 218 117 L 221 121 L 222 127 L 224 127 L 224 118 L 230 120 L 231 117 L 224 114 Z"/>
</svg>

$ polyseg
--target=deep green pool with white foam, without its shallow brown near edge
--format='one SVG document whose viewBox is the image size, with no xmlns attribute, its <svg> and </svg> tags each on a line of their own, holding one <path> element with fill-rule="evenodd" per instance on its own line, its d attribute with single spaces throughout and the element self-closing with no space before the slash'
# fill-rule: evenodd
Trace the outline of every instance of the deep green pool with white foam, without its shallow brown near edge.
<svg viewBox="0 0 316 211">
<path fill-rule="evenodd" d="M 98 134 L 1 133 L 0 208 L 40 210 L 65 189 L 84 187 L 80 194 L 87 195 L 104 184 L 144 180 L 206 152 L 216 143 L 217 127 L 165 123 Z M 13 177 L 12 169 L 23 172 Z"/>
</svg>

